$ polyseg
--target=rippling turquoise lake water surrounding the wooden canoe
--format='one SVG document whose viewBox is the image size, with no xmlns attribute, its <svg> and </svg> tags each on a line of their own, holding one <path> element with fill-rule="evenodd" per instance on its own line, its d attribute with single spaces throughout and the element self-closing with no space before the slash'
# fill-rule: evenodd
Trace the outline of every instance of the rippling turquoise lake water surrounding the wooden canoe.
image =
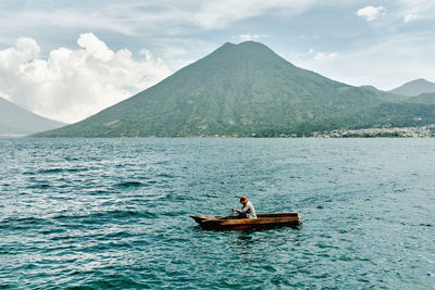
<svg viewBox="0 0 435 290">
<path fill-rule="evenodd" d="M 0 288 L 435 288 L 435 139 L 0 139 Z M 302 225 L 188 217 L 241 194 Z"/>
</svg>

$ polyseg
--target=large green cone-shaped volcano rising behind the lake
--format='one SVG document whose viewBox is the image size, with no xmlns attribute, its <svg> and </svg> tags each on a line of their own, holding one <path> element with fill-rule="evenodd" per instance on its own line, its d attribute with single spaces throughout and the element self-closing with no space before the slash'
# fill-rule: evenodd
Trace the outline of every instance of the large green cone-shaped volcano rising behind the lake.
<svg viewBox="0 0 435 290">
<path fill-rule="evenodd" d="M 395 113 L 403 114 L 398 124 L 428 122 L 419 115 L 421 111 L 418 116 L 408 111 L 411 104 L 384 103 L 378 91 L 296 67 L 264 45 L 247 41 L 225 43 L 123 102 L 36 136 L 304 136 L 380 122 L 395 124 Z M 423 110 L 424 114 L 431 110 Z"/>
</svg>

